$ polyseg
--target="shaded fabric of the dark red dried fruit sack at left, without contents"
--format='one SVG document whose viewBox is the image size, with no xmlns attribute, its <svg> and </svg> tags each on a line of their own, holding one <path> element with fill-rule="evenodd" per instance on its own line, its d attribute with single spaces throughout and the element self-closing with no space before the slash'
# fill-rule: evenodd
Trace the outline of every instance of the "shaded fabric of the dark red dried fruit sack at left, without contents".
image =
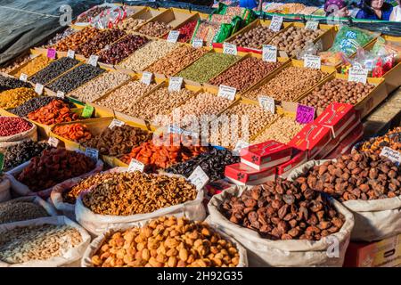
<svg viewBox="0 0 401 285">
<path fill-rule="evenodd" d="M 24 162 L 23 164 L 21 164 L 19 167 L 15 167 L 12 170 L 8 171 L 6 173 L 8 179 L 10 179 L 11 182 L 11 188 L 12 191 L 15 191 L 17 194 L 19 194 L 20 196 L 40 196 L 42 198 L 47 199 L 50 196 L 50 193 L 52 192 L 53 187 L 47 188 L 45 190 L 42 191 L 30 191 L 29 187 L 23 183 L 20 183 L 15 176 L 19 175 L 22 170 L 25 167 L 28 167 L 30 163 L 30 160 L 27 162 Z M 92 169 L 91 171 L 87 172 L 86 174 L 83 175 L 79 175 L 79 178 L 85 178 L 87 176 L 93 175 L 94 173 L 98 173 L 100 171 L 102 171 L 103 169 L 103 162 L 101 159 L 97 160 L 96 162 L 96 166 L 94 167 L 94 169 Z"/>
</svg>

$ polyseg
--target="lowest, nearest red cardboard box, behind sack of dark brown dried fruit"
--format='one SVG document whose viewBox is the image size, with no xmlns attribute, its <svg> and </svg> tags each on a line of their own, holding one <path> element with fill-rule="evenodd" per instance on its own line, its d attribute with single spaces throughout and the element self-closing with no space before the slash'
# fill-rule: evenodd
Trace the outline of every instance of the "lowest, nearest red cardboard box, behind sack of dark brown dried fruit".
<svg viewBox="0 0 401 285">
<path fill-rule="evenodd" d="M 258 170 L 243 163 L 236 163 L 225 167 L 225 177 L 238 185 L 258 185 L 274 181 L 275 167 Z"/>
</svg>

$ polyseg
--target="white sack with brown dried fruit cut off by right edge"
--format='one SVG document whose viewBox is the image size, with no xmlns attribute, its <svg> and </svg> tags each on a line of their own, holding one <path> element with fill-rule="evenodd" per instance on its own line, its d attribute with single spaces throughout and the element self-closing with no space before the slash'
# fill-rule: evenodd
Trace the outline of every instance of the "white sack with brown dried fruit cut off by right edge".
<svg viewBox="0 0 401 285">
<path fill-rule="evenodd" d="M 309 161 L 289 179 L 338 199 L 355 216 L 351 240 L 383 240 L 401 232 L 401 169 L 378 154 L 354 151 Z"/>
</svg>

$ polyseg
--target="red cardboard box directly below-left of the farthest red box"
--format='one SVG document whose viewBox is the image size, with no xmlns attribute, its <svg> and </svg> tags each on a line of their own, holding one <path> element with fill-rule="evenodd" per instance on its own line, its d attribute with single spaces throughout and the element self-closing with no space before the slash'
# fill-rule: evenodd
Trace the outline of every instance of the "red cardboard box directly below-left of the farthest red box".
<svg viewBox="0 0 401 285">
<path fill-rule="evenodd" d="M 311 159 L 324 151 L 325 146 L 331 141 L 331 128 L 310 123 L 304 126 L 288 145 L 300 151 L 307 151 L 307 157 Z"/>
</svg>

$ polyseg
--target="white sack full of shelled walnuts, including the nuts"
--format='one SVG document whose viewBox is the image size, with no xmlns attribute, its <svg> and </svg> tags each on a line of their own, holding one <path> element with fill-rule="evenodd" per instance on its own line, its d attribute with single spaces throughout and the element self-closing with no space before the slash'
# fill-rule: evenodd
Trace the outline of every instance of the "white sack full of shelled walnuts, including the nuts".
<svg viewBox="0 0 401 285">
<path fill-rule="evenodd" d="M 79 224 L 99 235 L 111 226 L 146 222 L 159 216 L 185 216 L 202 221 L 206 216 L 204 192 L 180 175 L 118 173 L 82 191 L 75 206 Z M 123 171 L 123 172 L 121 172 Z"/>
</svg>

